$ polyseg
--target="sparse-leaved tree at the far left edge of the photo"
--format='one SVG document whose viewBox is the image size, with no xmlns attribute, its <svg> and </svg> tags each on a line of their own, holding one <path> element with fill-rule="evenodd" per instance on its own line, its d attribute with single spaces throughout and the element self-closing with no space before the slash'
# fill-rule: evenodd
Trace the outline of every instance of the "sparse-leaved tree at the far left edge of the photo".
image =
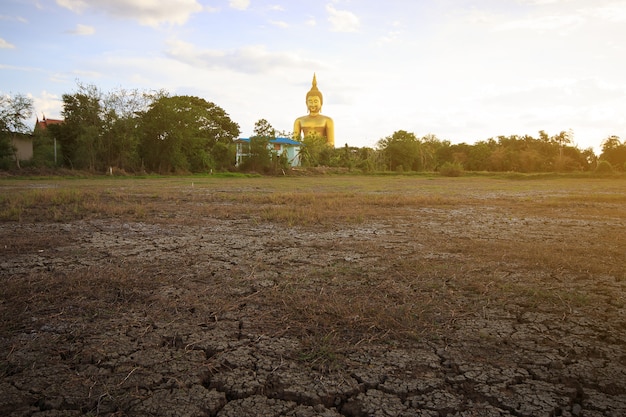
<svg viewBox="0 0 626 417">
<path fill-rule="evenodd" d="M 33 100 L 23 94 L 0 96 L 0 159 L 13 157 L 17 167 L 20 160 L 13 141 L 29 133 L 26 120 L 33 115 Z"/>
</svg>

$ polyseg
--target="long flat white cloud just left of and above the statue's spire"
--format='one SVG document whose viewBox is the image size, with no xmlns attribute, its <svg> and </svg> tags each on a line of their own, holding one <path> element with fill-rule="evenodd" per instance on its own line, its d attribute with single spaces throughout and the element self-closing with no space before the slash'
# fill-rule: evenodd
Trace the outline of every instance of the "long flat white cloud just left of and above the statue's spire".
<svg viewBox="0 0 626 417">
<path fill-rule="evenodd" d="M 270 73 L 285 68 L 320 67 L 317 62 L 296 54 L 268 51 L 263 45 L 249 45 L 234 50 L 199 49 L 184 41 L 168 42 L 166 54 L 180 62 L 205 68 L 227 68 L 242 73 Z"/>
</svg>

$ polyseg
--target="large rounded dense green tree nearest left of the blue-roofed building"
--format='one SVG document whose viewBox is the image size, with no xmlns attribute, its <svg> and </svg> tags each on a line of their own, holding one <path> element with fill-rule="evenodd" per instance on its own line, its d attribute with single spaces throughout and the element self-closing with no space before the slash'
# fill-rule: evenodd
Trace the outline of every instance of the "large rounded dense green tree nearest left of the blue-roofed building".
<svg viewBox="0 0 626 417">
<path fill-rule="evenodd" d="M 239 125 L 221 107 L 194 96 L 159 98 L 141 114 L 140 128 L 140 155 L 147 169 L 160 173 L 213 169 L 215 145 L 232 145 L 239 136 Z"/>
</svg>

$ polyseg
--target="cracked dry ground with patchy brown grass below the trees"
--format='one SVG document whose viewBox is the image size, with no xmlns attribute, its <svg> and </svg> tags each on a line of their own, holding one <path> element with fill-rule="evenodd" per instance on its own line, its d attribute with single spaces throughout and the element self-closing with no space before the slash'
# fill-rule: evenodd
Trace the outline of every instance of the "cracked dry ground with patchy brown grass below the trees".
<svg viewBox="0 0 626 417">
<path fill-rule="evenodd" d="M 0 415 L 626 415 L 624 180 L 157 181 L 0 184 L 128 207 L 0 222 Z"/>
</svg>

